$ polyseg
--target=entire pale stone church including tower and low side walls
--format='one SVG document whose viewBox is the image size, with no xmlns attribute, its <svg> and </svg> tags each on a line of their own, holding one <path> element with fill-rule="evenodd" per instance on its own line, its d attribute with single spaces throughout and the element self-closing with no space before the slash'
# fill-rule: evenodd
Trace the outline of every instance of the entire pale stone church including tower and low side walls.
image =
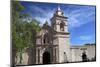
<svg viewBox="0 0 100 67">
<path fill-rule="evenodd" d="M 83 58 L 95 57 L 95 45 L 70 46 L 68 17 L 64 16 L 60 7 L 50 20 L 51 26 L 46 22 L 37 34 L 34 50 L 28 51 L 30 54 L 23 53 L 23 65 L 79 62 L 82 61 L 82 54 L 84 54 Z M 29 58 L 32 61 L 29 62 Z M 18 58 L 16 64 L 18 64 Z"/>
</svg>

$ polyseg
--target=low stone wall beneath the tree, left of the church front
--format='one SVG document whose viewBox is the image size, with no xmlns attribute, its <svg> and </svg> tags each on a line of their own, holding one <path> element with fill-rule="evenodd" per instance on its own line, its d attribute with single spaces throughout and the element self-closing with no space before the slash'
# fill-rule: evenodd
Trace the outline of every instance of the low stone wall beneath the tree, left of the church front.
<svg viewBox="0 0 100 67">
<path fill-rule="evenodd" d="M 27 48 L 22 53 L 22 59 L 20 63 L 20 53 L 17 52 L 15 57 L 15 65 L 29 65 L 35 64 L 35 52 L 33 48 Z"/>
</svg>

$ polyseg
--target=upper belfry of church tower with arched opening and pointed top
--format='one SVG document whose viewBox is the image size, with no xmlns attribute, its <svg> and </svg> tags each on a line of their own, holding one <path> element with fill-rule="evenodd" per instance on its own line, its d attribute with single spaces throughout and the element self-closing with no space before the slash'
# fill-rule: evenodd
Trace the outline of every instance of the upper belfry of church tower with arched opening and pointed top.
<svg viewBox="0 0 100 67">
<path fill-rule="evenodd" d="M 53 17 L 51 18 L 51 26 L 57 32 L 68 32 L 67 17 L 64 16 L 60 6 L 58 6 Z"/>
</svg>

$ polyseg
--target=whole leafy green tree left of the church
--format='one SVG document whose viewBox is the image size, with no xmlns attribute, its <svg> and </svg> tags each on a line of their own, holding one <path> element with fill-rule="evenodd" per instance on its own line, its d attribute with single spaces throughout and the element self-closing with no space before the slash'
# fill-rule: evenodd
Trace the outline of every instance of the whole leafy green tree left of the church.
<svg viewBox="0 0 100 67">
<path fill-rule="evenodd" d="M 28 14 L 21 13 L 24 9 L 25 7 L 19 1 L 12 1 L 12 57 L 13 62 L 15 62 L 16 53 L 19 53 L 20 63 L 22 63 L 22 53 L 26 48 L 34 47 L 36 34 L 40 31 L 37 20 L 23 21 L 23 19 L 29 18 Z"/>
</svg>

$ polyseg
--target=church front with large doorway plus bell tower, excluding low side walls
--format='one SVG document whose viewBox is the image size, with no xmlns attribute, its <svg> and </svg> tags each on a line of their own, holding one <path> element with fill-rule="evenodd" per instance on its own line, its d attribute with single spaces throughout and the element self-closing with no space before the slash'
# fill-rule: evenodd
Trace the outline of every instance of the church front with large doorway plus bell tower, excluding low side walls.
<svg viewBox="0 0 100 67">
<path fill-rule="evenodd" d="M 36 63 L 62 63 L 70 61 L 70 33 L 68 32 L 67 17 L 60 7 L 51 18 L 51 26 L 46 22 L 36 42 Z M 67 31 L 66 31 L 67 28 Z M 45 58 L 47 58 L 45 60 Z"/>
</svg>

